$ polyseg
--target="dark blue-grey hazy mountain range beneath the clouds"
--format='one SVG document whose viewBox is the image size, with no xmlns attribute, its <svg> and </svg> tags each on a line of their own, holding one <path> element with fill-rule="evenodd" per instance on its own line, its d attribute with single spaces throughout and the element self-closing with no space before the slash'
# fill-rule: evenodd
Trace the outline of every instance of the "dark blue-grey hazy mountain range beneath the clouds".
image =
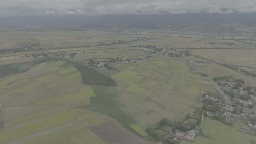
<svg viewBox="0 0 256 144">
<path fill-rule="evenodd" d="M 154 15 L 44 15 L 0 17 L 0 27 L 170 29 L 206 33 L 238 33 L 234 26 L 256 26 L 256 12 Z M 236 25 L 235 25 L 236 24 Z"/>
</svg>

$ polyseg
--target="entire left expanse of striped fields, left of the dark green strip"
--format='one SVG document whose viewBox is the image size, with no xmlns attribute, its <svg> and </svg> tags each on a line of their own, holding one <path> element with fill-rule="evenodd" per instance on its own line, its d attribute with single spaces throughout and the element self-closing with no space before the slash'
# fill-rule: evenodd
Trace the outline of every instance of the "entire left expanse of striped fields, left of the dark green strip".
<svg viewBox="0 0 256 144">
<path fill-rule="evenodd" d="M 113 119 L 80 108 L 89 106 L 96 94 L 91 86 L 82 83 L 80 72 L 71 63 L 40 63 L 27 72 L 2 79 L 0 86 L 4 106 L 0 144 L 111 144 L 90 127 L 101 128 L 101 124 L 113 123 Z M 124 131 L 121 126 L 116 128 Z M 134 138 L 137 144 L 140 138 Z"/>
</svg>

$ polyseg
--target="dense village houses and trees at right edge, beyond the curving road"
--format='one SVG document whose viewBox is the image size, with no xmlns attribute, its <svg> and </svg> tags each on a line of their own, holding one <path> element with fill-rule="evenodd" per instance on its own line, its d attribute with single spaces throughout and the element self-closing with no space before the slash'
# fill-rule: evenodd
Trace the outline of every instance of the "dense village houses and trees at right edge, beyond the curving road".
<svg viewBox="0 0 256 144">
<path fill-rule="evenodd" d="M 234 79 L 232 76 L 214 77 L 213 80 L 218 82 L 225 94 L 230 96 L 232 104 L 226 103 L 223 99 L 204 94 L 202 96 L 204 115 L 230 126 L 234 125 L 236 121 L 245 122 L 247 126 L 241 126 L 238 130 L 256 135 L 255 90 L 251 86 L 244 86 L 245 82 L 243 80 Z"/>
</svg>

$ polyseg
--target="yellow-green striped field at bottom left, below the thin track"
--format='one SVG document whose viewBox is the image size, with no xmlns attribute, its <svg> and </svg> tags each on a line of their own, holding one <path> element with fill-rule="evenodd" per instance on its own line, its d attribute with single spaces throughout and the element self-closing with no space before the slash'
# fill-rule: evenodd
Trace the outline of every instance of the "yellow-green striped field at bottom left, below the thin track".
<svg viewBox="0 0 256 144">
<path fill-rule="evenodd" d="M 84 137 L 91 138 L 90 141 L 86 141 L 86 144 L 90 142 L 106 144 L 87 127 L 103 124 L 109 119 L 92 114 L 90 111 L 66 107 L 65 110 L 28 118 L 24 122 L 2 129 L 0 144 L 46 144 L 49 142 L 84 144 L 82 142 Z"/>
</svg>

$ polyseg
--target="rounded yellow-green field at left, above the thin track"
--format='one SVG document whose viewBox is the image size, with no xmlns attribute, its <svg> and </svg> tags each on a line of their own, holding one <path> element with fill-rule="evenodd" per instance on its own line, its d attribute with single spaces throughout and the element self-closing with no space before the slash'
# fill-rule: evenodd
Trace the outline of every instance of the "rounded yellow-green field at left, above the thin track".
<svg viewBox="0 0 256 144">
<path fill-rule="evenodd" d="M 57 103 L 84 106 L 95 96 L 90 86 L 82 84 L 80 72 L 64 61 L 40 63 L 27 72 L 4 79 L 0 86 L 0 98 L 6 106 Z"/>
</svg>

